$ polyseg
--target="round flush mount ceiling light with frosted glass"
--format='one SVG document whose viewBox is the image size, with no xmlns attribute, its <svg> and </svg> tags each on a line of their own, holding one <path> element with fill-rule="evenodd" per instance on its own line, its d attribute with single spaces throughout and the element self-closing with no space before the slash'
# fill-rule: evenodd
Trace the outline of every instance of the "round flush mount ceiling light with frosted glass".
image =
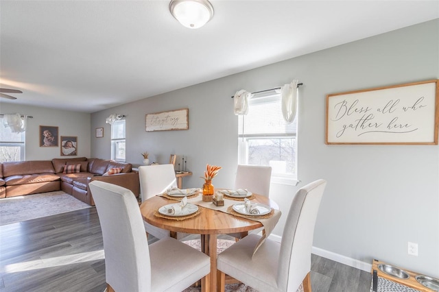
<svg viewBox="0 0 439 292">
<path fill-rule="evenodd" d="M 183 26 L 199 28 L 213 17 L 213 6 L 207 0 L 172 0 L 169 10 Z"/>
</svg>

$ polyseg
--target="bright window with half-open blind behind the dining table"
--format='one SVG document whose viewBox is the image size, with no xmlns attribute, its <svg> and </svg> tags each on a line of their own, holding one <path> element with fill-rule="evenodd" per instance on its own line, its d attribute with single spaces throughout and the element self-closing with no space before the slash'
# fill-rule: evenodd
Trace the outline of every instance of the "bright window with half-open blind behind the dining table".
<svg viewBox="0 0 439 292">
<path fill-rule="evenodd" d="M 239 116 L 239 164 L 269 165 L 273 182 L 296 184 L 297 119 L 283 119 L 280 91 L 254 94 L 248 106 L 248 114 Z"/>
</svg>

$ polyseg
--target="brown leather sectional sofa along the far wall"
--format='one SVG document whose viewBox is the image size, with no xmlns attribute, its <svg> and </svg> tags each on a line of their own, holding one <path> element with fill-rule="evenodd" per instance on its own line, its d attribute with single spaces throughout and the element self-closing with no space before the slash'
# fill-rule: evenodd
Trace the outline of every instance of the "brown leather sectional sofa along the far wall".
<svg viewBox="0 0 439 292">
<path fill-rule="evenodd" d="M 66 165 L 80 165 L 77 167 L 80 172 L 63 173 Z M 120 173 L 108 174 L 114 169 Z M 93 180 L 123 186 L 139 197 L 139 174 L 131 169 L 130 163 L 86 157 L 3 162 L 0 166 L 0 197 L 62 190 L 95 206 L 88 188 L 88 183 Z"/>
</svg>

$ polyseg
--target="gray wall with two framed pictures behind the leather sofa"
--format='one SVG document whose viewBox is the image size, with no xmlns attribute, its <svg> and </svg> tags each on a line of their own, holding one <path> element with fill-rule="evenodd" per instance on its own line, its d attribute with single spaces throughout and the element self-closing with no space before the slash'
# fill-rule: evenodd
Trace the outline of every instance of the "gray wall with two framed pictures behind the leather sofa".
<svg viewBox="0 0 439 292">
<path fill-rule="evenodd" d="M 34 117 L 27 119 L 26 160 L 50 160 L 61 157 L 60 146 L 40 147 L 40 125 L 58 127 L 58 145 L 61 143 L 60 136 L 77 136 L 78 156 L 75 157 L 90 157 L 90 114 L 1 102 L 0 114 L 16 112 Z"/>
</svg>

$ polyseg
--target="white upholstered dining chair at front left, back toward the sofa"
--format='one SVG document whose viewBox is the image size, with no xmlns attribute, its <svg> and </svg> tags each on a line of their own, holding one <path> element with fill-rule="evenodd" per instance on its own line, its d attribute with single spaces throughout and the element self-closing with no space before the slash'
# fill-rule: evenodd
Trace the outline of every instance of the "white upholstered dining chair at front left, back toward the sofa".
<svg viewBox="0 0 439 292">
<path fill-rule="evenodd" d="M 182 291 L 210 272 L 209 256 L 176 239 L 148 246 L 130 190 L 99 181 L 91 182 L 90 189 L 104 239 L 107 292 Z"/>
</svg>

